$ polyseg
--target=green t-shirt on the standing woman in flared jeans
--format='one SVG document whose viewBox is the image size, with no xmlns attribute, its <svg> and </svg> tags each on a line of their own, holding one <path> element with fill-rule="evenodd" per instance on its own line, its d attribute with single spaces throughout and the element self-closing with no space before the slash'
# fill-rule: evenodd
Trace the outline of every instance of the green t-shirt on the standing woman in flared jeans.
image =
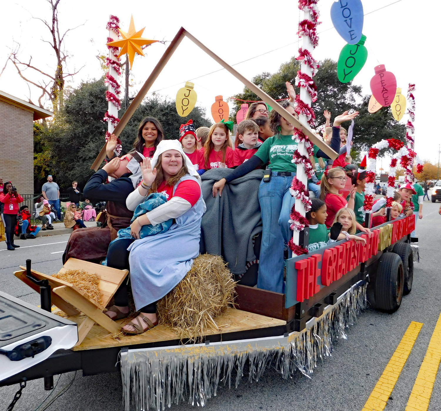
<svg viewBox="0 0 441 411">
<path fill-rule="evenodd" d="M 292 140 L 292 136 L 276 134 L 264 141 L 255 156 L 258 156 L 264 164 L 271 163 L 270 167 L 273 171 L 296 172 L 297 165 L 291 162 L 295 150 L 297 150 L 297 143 Z M 314 155 L 317 152 L 318 147 L 314 146 Z"/>
</svg>

